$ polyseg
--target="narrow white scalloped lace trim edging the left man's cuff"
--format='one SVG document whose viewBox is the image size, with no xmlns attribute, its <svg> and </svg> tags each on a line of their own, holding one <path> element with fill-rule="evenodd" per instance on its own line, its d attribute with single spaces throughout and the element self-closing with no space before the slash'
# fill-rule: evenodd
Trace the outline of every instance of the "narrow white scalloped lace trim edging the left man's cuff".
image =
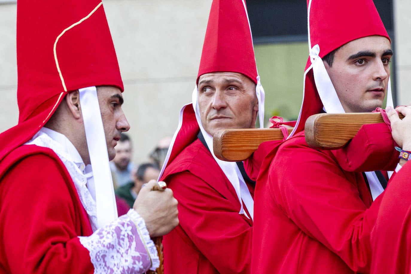
<svg viewBox="0 0 411 274">
<path fill-rule="evenodd" d="M 129 212 L 127 212 L 127 216 L 130 217 L 136 225 L 137 230 L 139 230 L 140 239 L 143 243 L 145 243 L 145 249 L 151 259 L 150 270 L 155 271 L 157 267 L 160 266 L 160 260 L 158 258 L 157 248 L 155 247 L 154 242 L 150 239 L 150 233 L 148 233 L 144 219 L 141 218 L 134 209 L 129 210 Z"/>
</svg>

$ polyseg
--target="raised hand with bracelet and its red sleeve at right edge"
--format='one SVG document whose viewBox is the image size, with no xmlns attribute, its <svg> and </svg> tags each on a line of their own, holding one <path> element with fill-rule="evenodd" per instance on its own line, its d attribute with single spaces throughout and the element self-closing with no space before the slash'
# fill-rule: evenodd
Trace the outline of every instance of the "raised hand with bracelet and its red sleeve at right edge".
<svg viewBox="0 0 411 274">
<path fill-rule="evenodd" d="M 411 108 L 396 108 L 405 118 L 400 120 L 393 109 L 388 111 L 388 118 L 393 129 L 395 143 L 404 151 L 411 151 Z M 407 117 L 408 116 L 408 117 Z M 411 273 L 411 176 L 410 154 L 400 159 L 395 169 L 395 176 L 388 182 L 381 200 L 372 239 L 371 273 Z"/>
</svg>

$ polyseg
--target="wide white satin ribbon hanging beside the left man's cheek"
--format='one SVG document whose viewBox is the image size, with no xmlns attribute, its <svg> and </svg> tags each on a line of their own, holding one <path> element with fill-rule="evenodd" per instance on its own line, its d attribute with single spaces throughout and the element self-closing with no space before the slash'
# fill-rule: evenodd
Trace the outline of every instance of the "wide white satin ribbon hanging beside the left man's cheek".
<svg viewBox="0 0 411 274">
<path fill-rule="evenodd" d="M 96 87 L 79 89 L 81 113 L 87 139 L 88 152 L 93 170 L 91 189 L 95 189 L 97 205 L 97 226 L 101 228 L 117 219 L 113 181 L 107 154 L 106 137 L 101 118 Z M 88 182 L 89 183 L 89 182 Z"/>
</svg>

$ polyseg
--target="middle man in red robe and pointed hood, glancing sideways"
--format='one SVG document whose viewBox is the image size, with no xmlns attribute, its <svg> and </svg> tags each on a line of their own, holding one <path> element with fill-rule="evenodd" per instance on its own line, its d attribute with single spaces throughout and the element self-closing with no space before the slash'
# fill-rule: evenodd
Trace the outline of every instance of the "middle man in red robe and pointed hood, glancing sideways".
<svg viewBox="0 0 411 274">
<path fill-rule="evenodd" d="M 161 179 L 178 200 L 180 225 L 164 237 L 166 273 L 250 273 L 252 182 L 242 162 L 213 153 L 219 129 L 263 125 L 245 1 L 214 0 L 193 103 L 183 107 Z"/>
</svg>

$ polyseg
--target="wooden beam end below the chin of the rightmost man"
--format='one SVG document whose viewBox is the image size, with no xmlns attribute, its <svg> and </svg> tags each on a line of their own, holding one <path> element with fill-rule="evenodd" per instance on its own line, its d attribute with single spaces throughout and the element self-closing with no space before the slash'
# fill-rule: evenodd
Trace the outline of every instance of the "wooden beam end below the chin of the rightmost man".
<svg viewBox="0 0 411 274">
<path fill-rule="evenodd" d="M 381 113 L 320 113 L 305 122 L 305 140 L 315 149 L 335 150 L 344 147 L 363 124 L 383 122 Z"/>
</svg>

